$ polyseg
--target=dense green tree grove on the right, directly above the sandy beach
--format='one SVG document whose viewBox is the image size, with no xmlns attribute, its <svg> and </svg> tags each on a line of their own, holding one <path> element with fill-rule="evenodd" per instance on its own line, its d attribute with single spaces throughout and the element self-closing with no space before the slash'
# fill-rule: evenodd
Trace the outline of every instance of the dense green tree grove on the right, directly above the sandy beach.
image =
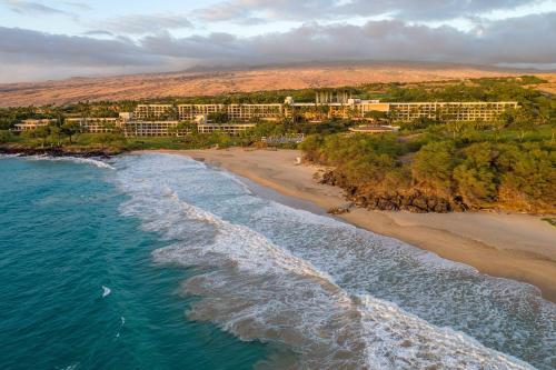
<svg viewBox="0 0 556 370">
<path fill-rule="evenodd" d="M 548 127 L 519 131 L 445 127 L 406 134 L 312 136 L 308 159 L 332 166 L 324 181 L 371 209 L 459 211 L 556 210 L 556 153 Z"/>
</svg>

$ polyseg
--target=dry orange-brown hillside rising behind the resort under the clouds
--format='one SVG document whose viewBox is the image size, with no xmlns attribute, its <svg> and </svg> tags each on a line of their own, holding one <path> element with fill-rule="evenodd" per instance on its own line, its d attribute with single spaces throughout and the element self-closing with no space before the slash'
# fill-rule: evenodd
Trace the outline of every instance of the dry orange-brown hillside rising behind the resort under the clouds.
<svg viewBox="0 0 556 370">
<path fill-rule="evenodd" d="M 419 82 L 523 74 L 524 71 L 455 64 L 329 64 L 188 71 L 0 84 L 0 107 L 78 101 L 211 96 L 226 92 Z"/>
</svg>

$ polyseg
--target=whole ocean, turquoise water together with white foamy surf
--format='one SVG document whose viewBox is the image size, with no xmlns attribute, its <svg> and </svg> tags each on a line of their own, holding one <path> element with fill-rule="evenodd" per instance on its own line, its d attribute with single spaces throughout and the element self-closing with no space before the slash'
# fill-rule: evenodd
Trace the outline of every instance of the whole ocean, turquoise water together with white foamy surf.
<svg viewBox="0 0 556 370">
<path fill-rule="evenodd" d="M 1 369 L 554 369 L 556 304 L 168 154 L 0 159 Z"/>
</svg>

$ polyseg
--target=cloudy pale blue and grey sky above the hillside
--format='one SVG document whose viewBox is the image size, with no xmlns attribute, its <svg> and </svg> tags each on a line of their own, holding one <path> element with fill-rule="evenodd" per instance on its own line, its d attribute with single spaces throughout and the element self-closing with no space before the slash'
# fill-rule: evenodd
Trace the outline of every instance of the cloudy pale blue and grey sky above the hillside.
<svg viewBox="0 0 556 370">
<path fill-rule="evenodd" d="M 556 0 L 0 0 L 0 83 L 329 61 L 556 68 Z"/>
</svg>

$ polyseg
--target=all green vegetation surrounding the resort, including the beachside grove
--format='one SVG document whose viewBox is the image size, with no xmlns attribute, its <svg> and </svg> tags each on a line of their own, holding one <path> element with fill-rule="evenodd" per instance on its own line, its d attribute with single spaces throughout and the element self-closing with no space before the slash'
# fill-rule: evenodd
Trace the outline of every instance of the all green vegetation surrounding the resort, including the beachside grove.
<svg viewBox="0 0 556 370">
<path fill-rule="evenodd" d="M 401 123 L 398 133 L 348 134 L 350 120 L 259 122 L 239 137 L 191 133 L 165 138 L 125 138 L 119 132 L 80 133 L 63 117 L 115 117 L 138 101 L 78 103 L 67 107 L 0 109 L 0 143 L 71 150 L 192 149 L 260 146 L 261 138 L 304 133 L 307 158 L 331 166 L 324 181 L 347 190 L 356 203 L 374 209 L 453 211 L 508 209 L 556 211 L 556 101 L 530 89 L 537 78 L 475 79 L 419 84 L 374 83 L 350 88 L 363 99 L 387 101 L 518 101 L 494 122 L 419 119 Z M 315 90 L 169 98 L 157 102 L 276 102 L 286 96 L 314 99 Z M 150 101 L 152 102 L 152 101 Z M 14 136 L 8 129 L 27 118 L 58 118 L 50 127 Z M 218 120 L 215 120 L 218 121 Z M 182 128 L 182 129 L 183 129 Z M 294 143 L 282 143 L 294 148 Z"/>
</svg>

